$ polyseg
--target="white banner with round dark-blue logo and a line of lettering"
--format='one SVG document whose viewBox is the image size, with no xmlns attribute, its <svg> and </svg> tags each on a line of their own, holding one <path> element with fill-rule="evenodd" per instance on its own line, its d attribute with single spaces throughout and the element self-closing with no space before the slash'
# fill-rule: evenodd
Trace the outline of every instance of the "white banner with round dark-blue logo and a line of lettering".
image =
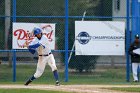
<svg viewBox="0 0 140 93">
<path fill-rule="evenodd" d="M 76 55 L 125 55 L 125 22 L 75 21 Z"/>
</svg>

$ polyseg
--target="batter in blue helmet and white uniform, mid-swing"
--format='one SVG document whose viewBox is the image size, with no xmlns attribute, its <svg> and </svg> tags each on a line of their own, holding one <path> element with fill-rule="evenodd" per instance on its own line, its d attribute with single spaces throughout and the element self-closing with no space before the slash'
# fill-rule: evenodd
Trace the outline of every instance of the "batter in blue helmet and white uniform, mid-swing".
<svg viewBox="0 0 140 93">
<path fill-rule="evenodd" d="M 48 64 L 51 67 L 52 72 L 54 74 L 56 86 L 59 86 L 60 83 L 57 67 L 55 64 L 54 56 L 50 49 L 48 38 L 45 35 L 43 35 L 42 30 L 40 28 L 34 28 L 33 33 L 35 35 L 33 41 L 31 43 L 26 42 L 23 45 L 23 47 L 27 47 L 32 54 L 34 54 L 35 51 L 37 51 L 39 58 L 35 74 L 31 78 L 29 78 L 24 85 L 27 86 L 33 80 L 39 78 L 43 74 L 46 64 Z"/>
</svg>

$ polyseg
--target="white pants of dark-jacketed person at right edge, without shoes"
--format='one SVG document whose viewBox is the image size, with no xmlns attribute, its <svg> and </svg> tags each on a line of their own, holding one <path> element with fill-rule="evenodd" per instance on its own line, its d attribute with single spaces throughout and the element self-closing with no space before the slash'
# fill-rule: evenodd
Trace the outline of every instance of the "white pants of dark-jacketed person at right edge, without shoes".
<svg viewBox="0 0 140 93">
<path fill-rule="evenodd" d="M 140 68 L 140 63 L 132 63 L 132 72 L 134 80 L 138 80 L 138 67 Z"/>
</svg>

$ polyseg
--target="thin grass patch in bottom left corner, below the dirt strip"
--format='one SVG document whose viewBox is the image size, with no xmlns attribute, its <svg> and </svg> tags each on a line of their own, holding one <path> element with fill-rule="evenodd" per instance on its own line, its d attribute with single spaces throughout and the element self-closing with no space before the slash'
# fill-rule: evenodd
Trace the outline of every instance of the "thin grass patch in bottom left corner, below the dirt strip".
<svg viewBox="0 0 140 93">
<path fill-rule="evenodd" d="M 0 93 L 70 93 L 70 92 L 37 90 L 37 89 L 0 89 Z"/>
</svg>

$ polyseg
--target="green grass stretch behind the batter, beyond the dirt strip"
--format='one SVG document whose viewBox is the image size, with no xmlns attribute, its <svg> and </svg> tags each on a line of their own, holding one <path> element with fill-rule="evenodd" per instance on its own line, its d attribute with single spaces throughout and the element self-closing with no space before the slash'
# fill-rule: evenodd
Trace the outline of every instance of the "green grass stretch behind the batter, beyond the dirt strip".
<svg viewBox="0 0 140 93">
<path fill-rule="evenodd" d="M 64 69 L 64 68 L 61 68 Z M 26 80 L 31 77 L 36 70 L 36 65 L 17 65 L 16 68 L 16 82 L 12 82 L 13 76 L 11 67 L 7 65 L 0 65 L 0 82 L 2 84 L 24 84 Z M 64 71 L 59 69 L 59 76 L 61 84 L 140 84 L 133 83 L 132 79 L 130 82 L 126 82 L 126 71 L 125 68 L 107 68 L 99 71 L 93 71 L 90 73 L 78 73 L 69 72 L 69 82 L 65 82 Z M 132 75 L 131 75 L 132 76 Z M 131 77 L 132 78 L 132 77 Z M 51 84 L 54 85 L 53 73 L 49 66 L 43 75 L 32 82 L 33 84 Z"/>
</svg>

